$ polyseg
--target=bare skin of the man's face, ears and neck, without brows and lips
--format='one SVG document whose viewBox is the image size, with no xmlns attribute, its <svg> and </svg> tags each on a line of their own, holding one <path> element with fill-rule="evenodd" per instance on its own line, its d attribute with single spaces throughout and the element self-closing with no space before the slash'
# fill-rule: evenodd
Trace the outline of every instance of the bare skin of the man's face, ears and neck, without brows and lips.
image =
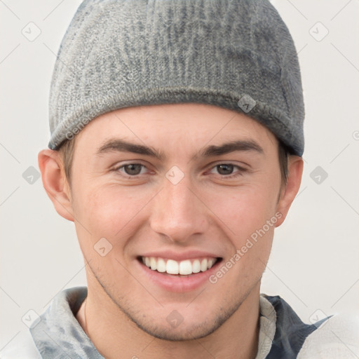
<svg viewBox="0 0 359 359">
<path fill-rule="evenodd" d="M 120 138 L 165 158 L 97 154 Z M 262 153 L 201 156 L 204 147 L 234 140 L 255 142 Z M 130 163 L 144 165 L 137 177 L 121 167 Z M 221 170 L 223 163 L 233 167 Z M 177 184 L 165 177 L 172 166 L 184 175 Z M 290 156 L 281 187 L 278 142 L 260 123 L 208 104 L 161 104 L 119 109 L 88 123 L 76 136 L 71 186 L 57 151 L 41 151 L 39 167 L 55 210 L 75 224 L 88 264 L 86 323 L 84 306 L 78 318 L 102 355 L 255 358 L 260 280 L 274 227 L 299 190 L 302 158 Z M 215 284 L 171 292 L 149 280 L 137 259 L 157 250 L 199 250 L 223 264 L 273 217 L 276 223 Z M 112 245 L 104 257 L 94 250 L 100 238 Z M 183 318 L 177 327 L 166 320 L 172 311 Z"/>
</svg>

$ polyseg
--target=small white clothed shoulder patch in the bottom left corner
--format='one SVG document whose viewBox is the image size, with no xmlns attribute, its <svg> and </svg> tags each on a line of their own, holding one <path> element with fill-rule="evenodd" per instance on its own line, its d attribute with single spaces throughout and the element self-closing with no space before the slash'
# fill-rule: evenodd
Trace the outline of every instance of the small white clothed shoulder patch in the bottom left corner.
<svg viewBox="0 0 359 359">
<path fill-rule="evenodd" d="M 1 359 L 41 359 L 29 330 L 22 330 L 0 352 Z"/>
</svg>

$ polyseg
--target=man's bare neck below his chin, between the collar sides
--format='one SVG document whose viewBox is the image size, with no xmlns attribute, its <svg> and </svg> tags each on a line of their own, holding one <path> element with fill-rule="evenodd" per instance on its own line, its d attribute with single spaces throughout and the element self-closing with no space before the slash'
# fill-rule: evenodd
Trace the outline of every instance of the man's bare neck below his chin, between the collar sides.
<svg viewBox="0 0 359 359">
<path fill-rule="evenodd" d="M 212 334 L 187 341 L 152 337 L 137 327 L 107 296 L 100 285 L 88 283 L 88 297 L 76 318 L 104 358 L 231 358 L 257 355 L 259 283 L 241 306 Z M 94 284 L 94 283 L 92 283 Z M 105 303 L 105 305 L 104 305 Z"/>
</svg>

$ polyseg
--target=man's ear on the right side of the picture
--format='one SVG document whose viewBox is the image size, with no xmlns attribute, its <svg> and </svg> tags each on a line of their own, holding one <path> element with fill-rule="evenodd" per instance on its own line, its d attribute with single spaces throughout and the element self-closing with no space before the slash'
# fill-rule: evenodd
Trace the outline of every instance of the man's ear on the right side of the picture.
<svg viewBox="0 0 359 359">
<path fill-rule="evenodd" d="M 282 214 L 282 217 L 276 222 L 276 227 L 280 226 L 287 217 L 290 205 L 294 201 L 295 196 L 299 191 L 302 182 L 303 174 L 303 159 L 299 156 L 290 155 L 288 158 L 288 177 L 287 185 L 280 190 L 280 197 L 277 203 L 277 212 Z"/>
</svg>

